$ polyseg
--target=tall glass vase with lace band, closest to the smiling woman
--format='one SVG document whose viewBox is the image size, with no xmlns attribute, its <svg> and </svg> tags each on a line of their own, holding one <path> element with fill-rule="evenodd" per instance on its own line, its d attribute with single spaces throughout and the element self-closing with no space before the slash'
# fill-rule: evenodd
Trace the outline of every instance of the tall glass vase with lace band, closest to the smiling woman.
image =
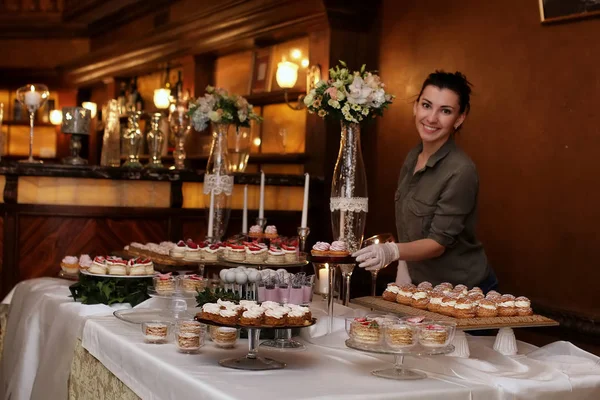
<svg viewBox="0 0 600 400">
<path fill-rule="evenodd" d="M 367 174 L 360 148 L 360 125 L 342 122 L 340 151 L 331 185 L 331 226 L 335 240 L 346 242 L 348 251 L 360 249 L 369 201 Z"/>
</svg>

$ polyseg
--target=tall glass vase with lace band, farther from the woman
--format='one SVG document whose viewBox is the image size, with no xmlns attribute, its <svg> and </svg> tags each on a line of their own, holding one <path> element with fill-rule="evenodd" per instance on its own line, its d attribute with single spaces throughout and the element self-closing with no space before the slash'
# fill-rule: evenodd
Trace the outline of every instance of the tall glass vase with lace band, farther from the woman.
<svg viewBox="0 0 600 400">
<path fill-rule="evenodd" d="M 212 240 L 221 240 L 227 231 L 231 213 L 231 193 L 233 175 L 230 175 L 229 156 L 227 154 L 227 133 L 229 124 L 213 124 L 213 140 L 204 175 L 204 195 L 208 207 L 208 231 L 206 236 Z M 213 205 L 212 216 L 210 204 Z"/>
</svg>

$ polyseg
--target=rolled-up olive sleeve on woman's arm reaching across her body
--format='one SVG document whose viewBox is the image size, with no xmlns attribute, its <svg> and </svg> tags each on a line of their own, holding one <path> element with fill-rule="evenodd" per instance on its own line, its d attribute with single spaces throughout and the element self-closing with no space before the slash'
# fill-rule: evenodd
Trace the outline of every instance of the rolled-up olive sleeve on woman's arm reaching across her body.
<svg viewBox="0 0 600 400">
<path fill-rule="evenodd" d="M 453 247 L 465 228 L 465 219 L 476 206 L 478 190 L 479 177 L 474 166 L 454 172 L 440 194 L 428 238 Z"/>
</svg>

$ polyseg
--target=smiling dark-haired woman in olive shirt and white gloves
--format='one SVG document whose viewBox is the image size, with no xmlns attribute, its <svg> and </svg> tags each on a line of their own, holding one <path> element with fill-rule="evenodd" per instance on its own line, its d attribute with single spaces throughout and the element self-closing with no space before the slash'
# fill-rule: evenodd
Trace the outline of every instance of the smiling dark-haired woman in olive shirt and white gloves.
<svg viewBox="0 0 600 400">
<path fill-rule="evenodd" d="M 470 95 L 470 83 L 460 72 L 436 71 L 423 83 L 413 106 L 421 143 L 408 153 L 395 195 L 399 243 L 359 250 L 354 256 L 360 267 L 380 269 L 400 260 L 398 283 L 406 261 L 413 283 L 462 283 L 484 292 L 497 287 L 475 237 L 477 169 L 454 142 Z"/>
</svg>

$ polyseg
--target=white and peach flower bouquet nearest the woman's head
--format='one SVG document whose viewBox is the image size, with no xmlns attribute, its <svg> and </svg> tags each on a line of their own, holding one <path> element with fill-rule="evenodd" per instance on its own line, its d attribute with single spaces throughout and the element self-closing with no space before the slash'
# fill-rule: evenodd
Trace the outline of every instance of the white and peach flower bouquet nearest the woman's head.
<svg viewBox="0 0 600 400">
<path fill-rule="evenodd" d="M 341 65 L 341 67 L 340 67 Z M 365 71 L 350 72 L 345 62 L 329 70 L 329 80 L 320 81 L 304 98 L 311 113 L 334 117 L 345 123 L 383 115 L 395 96 L 386 93 L 378 75 Z"/>
</svg>

